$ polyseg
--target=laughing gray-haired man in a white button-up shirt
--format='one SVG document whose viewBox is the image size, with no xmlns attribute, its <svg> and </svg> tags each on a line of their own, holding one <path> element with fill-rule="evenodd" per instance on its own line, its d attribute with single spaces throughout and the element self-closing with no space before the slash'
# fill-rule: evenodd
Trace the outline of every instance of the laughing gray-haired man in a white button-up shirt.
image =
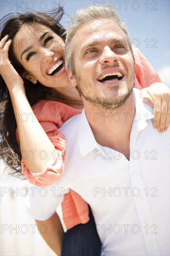
<svg viewBox="0 0 170 256">
<path fill-rule="evenodd" d="M 65 174 L 55 196 L 49 186 L 43 213 L 30 198 L 30 212 L 48 219 L 63 200 L 60 189 L 72 189 L 92 209 L 101 255 L 169 255 L 169 131 L 157 133 L 152 108 L 133 89 L 128 38 L 113 9 L 78 11 L 65 55 L 85 109 L 63 125 Z"/>
</svg>

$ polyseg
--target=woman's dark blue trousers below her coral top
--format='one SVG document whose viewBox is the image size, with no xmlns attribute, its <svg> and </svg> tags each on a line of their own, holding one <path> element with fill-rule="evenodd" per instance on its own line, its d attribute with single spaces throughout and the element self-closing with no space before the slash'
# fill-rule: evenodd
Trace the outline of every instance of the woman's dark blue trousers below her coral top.
<svg viewBox="0 0 170 256">
<path fill-rule="evenodd" d="M 100 256 L 101 242 L 89 207 L 90 221 L 78 224 L 65 233 L 61 256 Z"/>
</svg>

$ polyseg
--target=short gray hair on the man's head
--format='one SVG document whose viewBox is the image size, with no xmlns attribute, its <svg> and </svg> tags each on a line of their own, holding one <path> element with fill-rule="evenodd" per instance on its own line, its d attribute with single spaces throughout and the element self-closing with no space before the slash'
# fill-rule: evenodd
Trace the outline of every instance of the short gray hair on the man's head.
<svg viewBox="0 0 170 256">
<path fill-rule="evenodd" d="M 118 26 L 124 31 L 127 35 L 127 38 L 130 39 L 128 29 L 126 24 L 120 20 L 120 16 L 118 12 L 113 7 L 108 6 L 88 6 L 82 8 L 76 12 L 75 18 L 72 19 L 72 25 L 68 28 L 65 40 L 65 66 L 69 67 L 72 71 L 72 74 L 75 74 L 75 65 L 74 65 L 74 47 L 72 45 L 72 38 L 74 37 L 75 33 L 78 31 L 79 28 L 83 27 L 85 23 L 88 23 L 92 20 L 99 20 L 99 19 L 107 19 L 112 20 L 118 24 Z M 132 45 L 131 41 L 128 40 L 128 45 L 130 47 L 131 53 Z"/>
</svg>

